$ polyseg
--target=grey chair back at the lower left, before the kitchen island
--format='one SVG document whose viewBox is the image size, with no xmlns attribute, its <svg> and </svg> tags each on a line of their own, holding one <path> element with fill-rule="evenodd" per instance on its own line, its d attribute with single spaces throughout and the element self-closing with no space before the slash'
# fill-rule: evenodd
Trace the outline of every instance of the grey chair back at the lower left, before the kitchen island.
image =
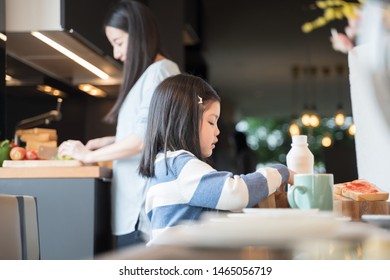
<svg viewBox="0 0 390 280">
<path fill-rule="evenodd" d="M 0 259 L 40 259 L 37 201 L 0 194 Z"/>
</svg>

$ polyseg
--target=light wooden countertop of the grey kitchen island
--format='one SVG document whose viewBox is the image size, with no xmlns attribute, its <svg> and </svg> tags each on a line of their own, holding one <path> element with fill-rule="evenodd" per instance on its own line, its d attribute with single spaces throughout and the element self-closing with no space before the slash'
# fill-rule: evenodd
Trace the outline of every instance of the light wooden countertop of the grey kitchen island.
<svg viewBox="0 0 390 280">
<path fill-rule="evenodd" d="M 2 167 L 1 179 L 14 178 L 111 178 L 112 170 L 98 165 L 72 167 Z"/>
</svg>

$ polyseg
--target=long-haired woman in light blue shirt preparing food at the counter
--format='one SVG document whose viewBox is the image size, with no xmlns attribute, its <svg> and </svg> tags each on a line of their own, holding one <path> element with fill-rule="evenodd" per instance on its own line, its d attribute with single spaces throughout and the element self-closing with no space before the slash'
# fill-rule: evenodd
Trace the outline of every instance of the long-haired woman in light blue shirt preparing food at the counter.
<svg viewBox="0 0 390 280">
<path fill-rule="evenodd" d="M 118 98 L 105 120 L 116 122 L 116 135 L 90 140 L 68 140 L 59 155 L 84 163 L 113 162 L 112 231 L 116 247 L 146 241 L 149 223 L 143 211 L 146 180 L 139 176 L 140 152 L 154 89 L 178 74 L 178 66 L 162 53 L 156 20 L 142 3 L 120 1 L 104 22 L 113 55 L 124 63 Z"/>
</svg>

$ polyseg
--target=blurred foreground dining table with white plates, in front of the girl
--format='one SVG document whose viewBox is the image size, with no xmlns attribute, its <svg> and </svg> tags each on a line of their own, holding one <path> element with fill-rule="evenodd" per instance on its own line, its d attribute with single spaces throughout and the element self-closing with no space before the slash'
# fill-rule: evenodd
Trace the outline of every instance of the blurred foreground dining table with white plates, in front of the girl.
<svg viewBox="0 0 390 280">
<path fill-rule="evenodd" d="M 390 202 L 380 204 L 349 201 L 347 207 L 335 200 L 333 211 L 320 211 L 267 208 L 269 203 L 263 202 L 266 208 L 206 212 L 146 246 L 106 252 L 97 259 L 390 260 Z"/>
</svg>

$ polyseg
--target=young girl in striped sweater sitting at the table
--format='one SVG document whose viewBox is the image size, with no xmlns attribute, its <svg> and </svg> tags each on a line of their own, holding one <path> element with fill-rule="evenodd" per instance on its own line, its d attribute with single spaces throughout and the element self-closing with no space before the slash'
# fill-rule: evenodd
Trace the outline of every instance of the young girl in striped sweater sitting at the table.
<svg viewBox="0 0 390 280">
<path fill-rule="evenodd" d="M 246 175 L 207 164 L 218 142 L 219 115 L 220 98 L 201 78 L 179 74 L 156 88 L 140 164 L 140 174 L 151 178 L 145 207 L 152 239 L 206 210 L 252 207 L 293 183 L 281 164 Z"/>
</svg>

